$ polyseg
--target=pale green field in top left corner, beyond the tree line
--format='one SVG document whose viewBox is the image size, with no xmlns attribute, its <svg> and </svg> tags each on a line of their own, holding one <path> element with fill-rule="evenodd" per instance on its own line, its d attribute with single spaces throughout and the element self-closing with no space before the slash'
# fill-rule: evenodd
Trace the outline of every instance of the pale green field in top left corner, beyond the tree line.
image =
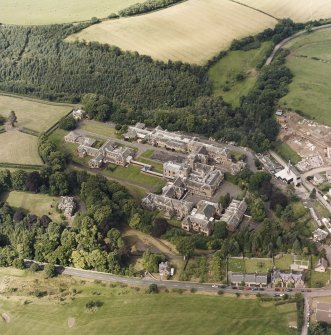
<svg viewBox="0 0 331 335">
<path fill-rule="evenodd" d="M 105 18 L 139 0 L 1 0 L 0 22 L 50 24 Z"/>
</svg>

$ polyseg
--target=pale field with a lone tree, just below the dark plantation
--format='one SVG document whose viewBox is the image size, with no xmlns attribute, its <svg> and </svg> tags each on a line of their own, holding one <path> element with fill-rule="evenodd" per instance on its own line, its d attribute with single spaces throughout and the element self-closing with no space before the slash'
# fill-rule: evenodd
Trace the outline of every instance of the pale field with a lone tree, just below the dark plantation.
<svg viewBox="0 0 331 335">
<path fill-rule="evenodd" d="M 72 107 L 53 105 L 39 100 L 27 100 L 0 95 L 0 115 L 7 117 L 11 110 L 17 116 L 17 127 L 36 132 L 46 131 L 61 117 L 69 113 Z"/>
</svg>

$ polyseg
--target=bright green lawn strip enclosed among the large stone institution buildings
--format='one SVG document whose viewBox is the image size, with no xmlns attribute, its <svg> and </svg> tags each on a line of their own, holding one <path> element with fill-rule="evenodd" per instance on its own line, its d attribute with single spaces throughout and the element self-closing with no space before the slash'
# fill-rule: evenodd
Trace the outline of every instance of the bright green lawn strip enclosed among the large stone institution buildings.
<svg viewBox="0 0 331 335">
<path fill-rule="evenodd" d="M 133 185 L 145 187 L 149 190 L 157 191 L 165 185 L 165 180 L 150 176 L 141 172 L 141 167 L 129 165 L 128 167 L 116 166 L 109 164 L 104 171 L 105 176 L 118 178 L 119 182 L 125 180 Z"/>
</svg>

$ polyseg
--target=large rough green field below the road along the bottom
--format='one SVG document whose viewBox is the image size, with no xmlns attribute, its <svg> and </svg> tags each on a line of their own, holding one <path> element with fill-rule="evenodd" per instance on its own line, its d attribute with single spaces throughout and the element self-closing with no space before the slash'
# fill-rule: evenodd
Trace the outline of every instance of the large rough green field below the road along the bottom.
<svg viewBox="0 0 331 335">
<path fill-rule="evenodd" d="M 46 280 L 39 274 L 6 270 L 0 272 L 0 282 L 5 283 L 0 313 L 7 319 L 1 320 L 0 333 L 5 335 L 25 334 L 27 329 L 43 335 L 293 334 L 288 322 L 295 317 L 294 304 L 284 308 L 217 295 L 146 294 L 144 289 L 116 284 L 67 277 Z M 36 290 L 45 296 L 36 298 Z M 102 306 L 88 311 L 85 305 L 91 300 Z"/>
</svg>

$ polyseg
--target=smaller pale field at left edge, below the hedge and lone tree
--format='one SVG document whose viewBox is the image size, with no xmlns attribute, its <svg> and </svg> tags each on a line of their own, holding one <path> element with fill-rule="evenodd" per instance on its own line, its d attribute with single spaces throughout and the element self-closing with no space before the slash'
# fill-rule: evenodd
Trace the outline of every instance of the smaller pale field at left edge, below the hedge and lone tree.
<svg viewBox="0 0 331 335">
<path fill-rule="evenodd" d="M 38 154 L 38 138 L 9 130 L 0 134 L 0 162 L 15 164 L 42 164 Z"/>
</svg>

